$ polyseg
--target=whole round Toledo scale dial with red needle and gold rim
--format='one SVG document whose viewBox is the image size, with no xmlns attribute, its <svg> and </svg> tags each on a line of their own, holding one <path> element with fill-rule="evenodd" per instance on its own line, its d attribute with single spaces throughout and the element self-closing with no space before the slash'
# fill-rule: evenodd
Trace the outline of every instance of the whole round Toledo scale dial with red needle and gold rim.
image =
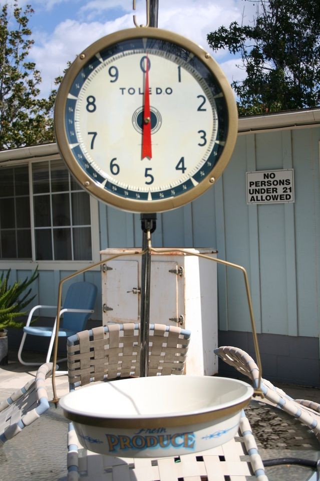
<svg viewBox="0 0 320 481">
<path fill-rule="evenodd" d="M 69 68 L 55 107 L 62 157 L 98 199 L 133 212 L 190 202 L 221 175 L 237 112 L 216 62 L 154 28 L 92 44 Z"/>
</svg>

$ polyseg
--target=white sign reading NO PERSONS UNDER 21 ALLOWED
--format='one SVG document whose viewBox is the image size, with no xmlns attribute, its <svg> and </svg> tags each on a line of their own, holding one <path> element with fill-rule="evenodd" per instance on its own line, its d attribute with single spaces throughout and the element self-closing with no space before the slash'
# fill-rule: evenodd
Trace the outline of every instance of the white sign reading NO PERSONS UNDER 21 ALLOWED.
<svg viewBox="0 0 320 481">
<path fill-rule="evenodd" d="M 294 202 L 293 169 L 247 172 L 247 204 Z"/>
</svg>

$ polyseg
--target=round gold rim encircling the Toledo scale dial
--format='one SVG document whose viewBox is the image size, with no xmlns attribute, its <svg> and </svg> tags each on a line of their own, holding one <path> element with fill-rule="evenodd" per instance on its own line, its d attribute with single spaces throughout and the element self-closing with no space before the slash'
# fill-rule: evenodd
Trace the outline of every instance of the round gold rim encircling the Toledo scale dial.
<svg viewBox="0 0 320 481">
<path fill-rule="evenodd" d="M 72 149 L 70 148 L 66 133 L 65 109 L 67 97 L 74 80 L 79 72 L 83 69 L 84 65 L 103 49 L 106 49 L 124 40 L 139 38 L 166 40 L 191 52 L 207 67 L 207 69 L 216 79 L 216 82 L 221 88 L 226 104 L 226 112 L 228 115 L 228 131 L 225 139 L 225 145 L 218 161 L 209 174 L 203 177 L 201 182 L 199 182 L 190 190 L 187 190 L 185 193 L 182 193 L 176 197 L 163 199 L 160 198 L 158 200 L 136 200 L 132 198 L 125 198 L 117 195 L 117 193 L 110 192 L 109 190 L 103 188 L 98 182 L 95 182 L 90 175 L 88 175 L 81 165 L 79 165 L 72 152 Z M 106 202 L 107 204 L 113 205 L 114 207 L 118 207 L 122 210 L 142 213 L 164 212 L 176 207 L 180 207 L 196 199 L 209 187 L 211 187 L 220 177 L 231 158 L 237 137 L 237 119 L 237 108 L 232 89 L 224 73 L 215 60 L 213 60 L 213 58 L 207 52 L 205 52 L 198 45 L 194 44 L 192 41 L 173 32 L 150 27 L 141 27 L 115 32 L 96 41 L 80 55 L 78 55 L 76 60 L 68 69 L 60 85 L 54 113 L 55 133 L 59 151 L 65 163 L 67 164 L 67 167 L 73 176 L 78 180 L 78 182 L 93 196 L 103 202 Z M 130 148 L 130 146 L 128 146 L 128 148 Z"/>
</svg>

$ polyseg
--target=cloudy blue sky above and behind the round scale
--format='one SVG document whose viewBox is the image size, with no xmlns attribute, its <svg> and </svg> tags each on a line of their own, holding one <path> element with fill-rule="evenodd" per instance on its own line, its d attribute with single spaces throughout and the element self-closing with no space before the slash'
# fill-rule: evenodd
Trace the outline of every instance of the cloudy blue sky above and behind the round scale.
<svg viewBox="0 0 320 481">
<path fill-rule="evenodd" d="M 145 0 L 136 0 L 136 12 L 132 10 L 132 0 L 18 0 L 18 3 L 22 7 L 29 3 L 35 10 L 29 24 L 35 40 L 31 58 L 41 71 L 45 96 L 55 87 L 53 81 L 63 73 L 67 62 L 73 61 L 83 49 L 105 35 L 133 28 L 134 14 L 139 24 L 146 18 Z M 243 71 L 236 68 L 239 61 L 225 52 L 213 54 L 206 36 L 221 25 L 241 23 L 243 15 L 247 23 L 254 9 L 252 3 L 243 0 L 159 0 L 158 27 L 201 45 L 221 65 L 229 81 L 237 80 L 243 76 Z"/>
</svg>

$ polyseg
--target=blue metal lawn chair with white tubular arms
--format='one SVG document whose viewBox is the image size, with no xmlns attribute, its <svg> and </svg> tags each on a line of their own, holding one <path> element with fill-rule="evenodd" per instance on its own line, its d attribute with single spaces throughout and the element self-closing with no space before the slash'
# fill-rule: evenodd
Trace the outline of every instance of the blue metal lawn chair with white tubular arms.
<svg viewBox="0 0 320 481">
<path fill-rule="evenodd" d="M 63 315 L 63 327 L 59 329 L 59 337 L 73 336 L 79 331 L 83 331 L 90 314 L 94 312 L 93 308 L 97 298 L 97 286 L 90 282 L 76 282 L 71 284 L 68 289 L 63 308 L 59 317 Z M 57 318 L 52 327 L 31 326 L 31 320 L 37 309 L 54 309 L 56 306 L 35 306 L 29 313 L 27 324 L 24 327 L 24 334 L 19 347 L 18 359 L 26 366 L 37 366 L 42 363 L 26 362 L 22 359 L 22 351 L 28 334 L 32 336 L 50 337 L 49 349 L 46 362 L 50 362 L 51 353 L 54 345 Z"/>
</svg>

